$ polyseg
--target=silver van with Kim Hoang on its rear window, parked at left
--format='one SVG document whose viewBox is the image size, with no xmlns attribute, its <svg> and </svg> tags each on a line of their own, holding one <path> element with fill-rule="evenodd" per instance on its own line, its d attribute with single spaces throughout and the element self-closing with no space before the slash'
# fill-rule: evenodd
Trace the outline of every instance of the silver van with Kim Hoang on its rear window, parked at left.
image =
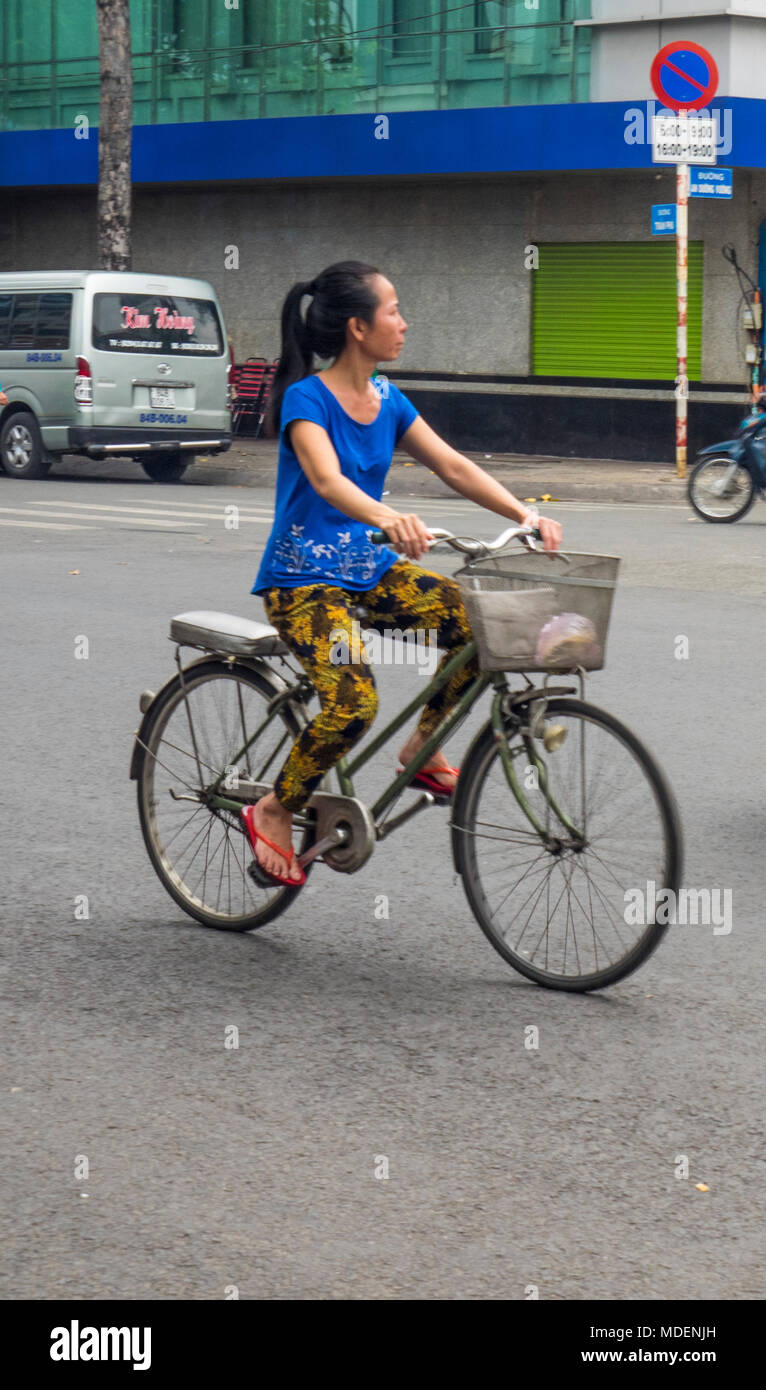
<svg viewBox="0 0 766 1390">
<path fill-rule="evenodd" d="M 232 367 L 206 279 L 0 272 L 0 466 L 43 478 L 64 453 L 124 455 L 175 482 L 229 448 Z"/>
</svg>

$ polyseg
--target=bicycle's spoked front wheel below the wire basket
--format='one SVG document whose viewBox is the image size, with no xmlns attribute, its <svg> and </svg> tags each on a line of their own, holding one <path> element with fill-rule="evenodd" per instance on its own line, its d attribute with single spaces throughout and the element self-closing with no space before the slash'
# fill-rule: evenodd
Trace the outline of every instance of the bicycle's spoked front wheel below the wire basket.
<svg viewBox="0 0 766 1390">
<path fill-rule="evenodd" d="M 481 930 L 509 965 L 549 988 L 598 990 L 635 970 L 667 930 L 655 894 L 678 891 L 680 821 L 662 771 L 624 724 L 577 699 L 549 701 L 545 719 L 564 735 L 555 752 L 528 727 L 506 730 L 544 833 L 513 796 L 488 724 L 457 784 L 456 860 Z"/>
</svg>

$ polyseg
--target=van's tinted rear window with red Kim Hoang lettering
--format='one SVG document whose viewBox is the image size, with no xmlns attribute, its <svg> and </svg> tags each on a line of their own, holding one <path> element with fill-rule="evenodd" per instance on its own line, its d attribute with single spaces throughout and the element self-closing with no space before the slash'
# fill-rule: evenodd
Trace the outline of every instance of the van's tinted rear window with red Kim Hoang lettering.
<svg viewBox="0 0 766 1390">
<path fill-rule="evenodd" d="M 224 339 L 215 304 L 178 295 L 95 295 L 93 348 L 220 357 Z"/>
</svg>

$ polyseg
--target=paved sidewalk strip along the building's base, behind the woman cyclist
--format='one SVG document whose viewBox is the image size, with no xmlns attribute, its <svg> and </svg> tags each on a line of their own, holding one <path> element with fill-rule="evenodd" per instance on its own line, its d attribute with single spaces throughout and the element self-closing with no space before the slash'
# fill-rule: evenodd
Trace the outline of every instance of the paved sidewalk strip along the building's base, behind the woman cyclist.
<svg viewBox="0 0 766 1390">
<path fill-rule="evenodd" d="M 277 478 L 277 441 L 236 439 L 228 453 L 200 455 L 193 466 L 199 482 L 268 488 Z M 685 503 L 685 481 L 671 463 L 624 463 L 614 459 L 559 459 L 468 453 L 517 498 L 557 502 Z M 688 478 L 687 467 L 687 478 Z M 203 477 L 204 474 L 204 477 Z M 423 464 L 396 452 L 386 480 L 393 496 L 453 498 L 455 492 Z"/>
</svg>

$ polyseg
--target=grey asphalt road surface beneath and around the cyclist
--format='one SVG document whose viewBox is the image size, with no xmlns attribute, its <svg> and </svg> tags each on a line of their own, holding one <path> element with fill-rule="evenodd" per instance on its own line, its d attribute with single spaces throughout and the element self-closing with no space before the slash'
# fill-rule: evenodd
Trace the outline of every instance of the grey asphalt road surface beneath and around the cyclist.
<svg viewBox="0 0 766 1390">
<path fill-rule="evenodd" d="M 481 935 L 443 809 L 355 876 L 317 866 L 250 935 L 200 927 L 154 877 L 128 781 L 138 696 L 171 674 L 171 614 L 263 617 L 249 589 L 270 503 L 0 480 L 0 1294 L 763 1298 L 766 509 L 735 527 L 549 509 L 570 548 L 624 557 L 588 694 L 662 760 L 684 883 L 734 894 L 730 934 L 671 927 L 621 984 L 566 995 Z M 420 510 L 502 527 L 459 499 Z M 377 677 L 380 719 L 420 680 Z M 455 762 L 487 710 L 448 745 Z M 360 778 L 370 799 L 396 752 Z"/>
</svg>

